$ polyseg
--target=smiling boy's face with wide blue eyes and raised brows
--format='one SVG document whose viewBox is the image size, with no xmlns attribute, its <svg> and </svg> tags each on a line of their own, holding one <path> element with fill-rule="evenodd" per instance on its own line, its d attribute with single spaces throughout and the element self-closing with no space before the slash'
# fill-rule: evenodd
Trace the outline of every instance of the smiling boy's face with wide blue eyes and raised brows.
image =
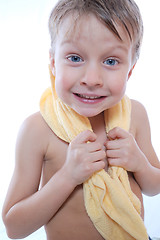
<svg viewBox="0 0 160 240">
<path fill-rule="evenodd" d="M 132 44 L 121 26 L 117 29 L 123 41 L 93 15 L 72 26 L 68 17 L 56 39 L 56 92 L 80 115 L 93 117 L 124 96 L 133 67 Z"/>
</svg>

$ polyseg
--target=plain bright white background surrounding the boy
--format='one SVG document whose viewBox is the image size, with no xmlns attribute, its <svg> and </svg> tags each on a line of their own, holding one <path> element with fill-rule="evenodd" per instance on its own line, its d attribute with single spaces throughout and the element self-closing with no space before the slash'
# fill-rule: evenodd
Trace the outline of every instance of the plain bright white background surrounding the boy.
<svg viewBox="0 0 160 240">
<path fill-rule="evenodd" d="M 50 84 L 47 24 L 55 2 L 0 0 L 0 203 L 4 201 L 14 169 L 19 127 L 27 116 L 39 110 L 41 93 Z M 160 158 L 160 1 L 136 2 L 144 21 L 144 39 L 127 94 L 146 107 L 152 142 Z M 144 198 L 145 223 L 152 237 L 160 237 L 159 203 L 160 195 Z"/>
</svg>

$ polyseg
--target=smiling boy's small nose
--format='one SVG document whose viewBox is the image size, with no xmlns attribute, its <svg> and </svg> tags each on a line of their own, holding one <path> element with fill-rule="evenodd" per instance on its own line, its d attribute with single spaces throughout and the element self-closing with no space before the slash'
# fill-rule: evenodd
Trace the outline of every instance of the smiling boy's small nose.
<svg viewBox="0 0 160 240">
<path fill-rule="evenodd" d="M 88 87 L 102 87 L 103 80 L 100 68 L 94 65 L 86 67 L 80 84 Z"/>
</svg>

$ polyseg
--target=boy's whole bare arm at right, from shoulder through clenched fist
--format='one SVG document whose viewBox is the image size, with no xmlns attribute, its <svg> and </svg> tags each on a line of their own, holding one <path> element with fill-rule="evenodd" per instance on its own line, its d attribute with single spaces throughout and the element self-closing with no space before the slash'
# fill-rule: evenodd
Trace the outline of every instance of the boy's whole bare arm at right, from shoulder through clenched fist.
<svg viewBox="0 0 160 240">
<path fill-rule="evenodd" d="M 160 162 L 151 143 L 151 133 L 144 107 L 132 101 L 131 132 L 120 128 L 109 132 L 107 156 L 111 165 L 124 167 L 134 174 L 147 195 L 160 193 Z"/>
</svg>

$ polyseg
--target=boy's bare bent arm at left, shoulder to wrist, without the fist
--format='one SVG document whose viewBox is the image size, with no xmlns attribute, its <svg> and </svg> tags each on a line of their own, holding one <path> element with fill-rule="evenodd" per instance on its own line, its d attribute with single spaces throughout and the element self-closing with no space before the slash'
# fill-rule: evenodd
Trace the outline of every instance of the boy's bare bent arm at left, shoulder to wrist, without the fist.
<svg viewBox="0 0 160 240">
<path fill-rule="evenodd" d="M 24 122 L 18 135 L 15 170 L 3 207 L 11 238 L 26 237 L 46 224 L 74 189 L 61 170 L 38 191 L 48 146 L 46 128 L 43 119 L 34 115 Z"/>
</svg>

